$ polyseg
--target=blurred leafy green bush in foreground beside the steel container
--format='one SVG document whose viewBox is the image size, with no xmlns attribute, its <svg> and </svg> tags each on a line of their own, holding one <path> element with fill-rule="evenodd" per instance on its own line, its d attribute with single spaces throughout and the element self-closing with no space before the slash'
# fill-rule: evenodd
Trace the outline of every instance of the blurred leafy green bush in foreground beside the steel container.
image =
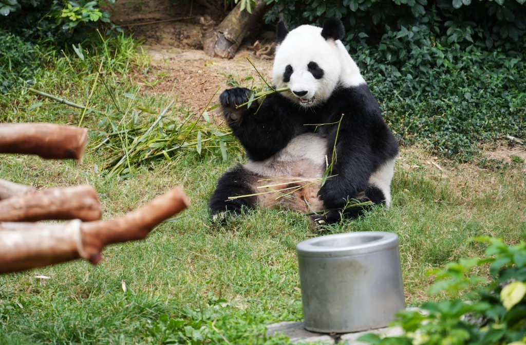
<svg viewBox="0 0 526 345">
<path fill-rule="evenodd" d="M 526 339 L 526 243 L 508 247 L 494 238 L 478 239 L 489 243 L 486 257 L 463 259 L 449 263 L 443 270 L 432 273 L 437 282 L 430 292 L 446 292 L 464 296 L 440 302 L 426 302 L 418 311 L 403 311 L 395 323 L 402 327 L 400 337 L 381 339 L 377 334 L 367 334 L 360 340 L 370 344 L 524 344 Z M 474 274 L 475 269 L 490 269 L 491 283 Z"/>
</svg>

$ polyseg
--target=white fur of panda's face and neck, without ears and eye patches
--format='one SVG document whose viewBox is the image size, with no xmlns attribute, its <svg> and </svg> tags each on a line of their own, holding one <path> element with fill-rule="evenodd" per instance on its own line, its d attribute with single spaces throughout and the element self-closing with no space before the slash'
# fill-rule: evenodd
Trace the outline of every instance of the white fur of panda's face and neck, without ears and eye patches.
<svg viewBox="0 0 526 345">
<path fill-rule="evenodd" d="M 321 28 L 301 25 L 290 31 L 285 40 L 276 48 L 272 77 L 276 87 L 307 91 L 302 98 L 315 97 L 313 103 L 320 104 L 330 97 L 336 86 L 357 86 L 365 83 L 360 70 L 341 41 L 325 40 Z M 307 64 L 316 62 L 323 70 L 323 77 L 316 79 L 308 71 Z M 287 65 L 292 66 L 289 82 L 284 82 L 283 74 Z M 283 93 L 294 102 L 298 97 L 291 91 Z"/>
</svg>

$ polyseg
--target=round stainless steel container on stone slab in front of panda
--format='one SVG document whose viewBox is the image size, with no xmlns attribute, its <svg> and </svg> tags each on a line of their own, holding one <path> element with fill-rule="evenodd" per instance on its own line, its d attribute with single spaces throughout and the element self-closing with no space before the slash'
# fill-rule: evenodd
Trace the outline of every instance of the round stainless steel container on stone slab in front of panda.
<svg viewBox="0 0 526 345">
<path fill-rule="evenodd" d="M 296 250 L 307 330 L 385 327 L 405 307 L 396 234 L 326 235 L 300 242 Z"/>
</svg>

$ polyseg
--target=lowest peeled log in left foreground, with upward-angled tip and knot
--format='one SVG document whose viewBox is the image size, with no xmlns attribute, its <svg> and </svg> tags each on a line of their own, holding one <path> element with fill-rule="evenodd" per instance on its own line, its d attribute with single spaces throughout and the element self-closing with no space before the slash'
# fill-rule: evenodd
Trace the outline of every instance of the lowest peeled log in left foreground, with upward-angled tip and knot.
<svg viewBox="0 0 526 345">
<path fill-rule="evenodd" d="M 85 223 L 73 220 L 65 224 L 0 223 L 0 273 L 79 258 L 97 264 L 105 245 L 144 239 L 157 224 L 188 205 L 183 190 L 175 188 L 114 220 Z"/>
</svg>

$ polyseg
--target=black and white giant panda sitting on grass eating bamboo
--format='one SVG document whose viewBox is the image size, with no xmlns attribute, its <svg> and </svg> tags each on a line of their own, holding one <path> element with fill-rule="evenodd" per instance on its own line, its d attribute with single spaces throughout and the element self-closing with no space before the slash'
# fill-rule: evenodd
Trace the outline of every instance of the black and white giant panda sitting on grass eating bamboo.
<svg viewBox="0 0 526 345">
<path fill-rule="evenodd" d="M 280 206 L 310 213 L 318 228 L 358 218 L 365 205 L 389 206 L 398 143 L 343 34 L 337 18 L 290 32 L 279 22 L 272 78 L 289 90 L 239 108 L 248 88 L 220 94 L 249 161 L 219 179 L 209 203 L 213 219 Z"/>
</svg>

